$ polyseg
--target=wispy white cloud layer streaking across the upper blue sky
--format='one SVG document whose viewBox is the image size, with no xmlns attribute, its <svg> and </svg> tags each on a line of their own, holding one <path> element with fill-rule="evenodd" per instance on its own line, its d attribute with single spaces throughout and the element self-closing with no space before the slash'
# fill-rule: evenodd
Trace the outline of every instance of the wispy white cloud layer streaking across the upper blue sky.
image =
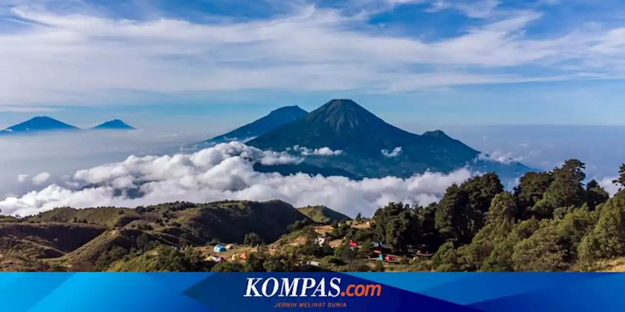
<svg viewBox="0 0 625 312">
<path fill-rule="evenodd" d="M 492 0 L 470 5 L 439 2 L 439 7 L 491 19 L 457 36 L 427 42 L 368 32 L 361 27 L 367 22 L 366 14 L 314 6 L 292 5 L 289 14 L 266 20 L 213 18 L 199 24 L 161 16 L 148 20 L 104 17 L 88 4 L 63 6 L 61 14 L 28 5 L 31 1 L 20 2 L 26 5 L 12 7 L 6 14 L 15 17 L 11 21 L 29 26 L 0 33 L 0 59 L 11 60 L 0 62 L 0 104 L 11 107 L 36 107 L 33 103 L 39 102 L 119 104 L 146 94 L 196 91 L 392 92 L 611 79 L 621 75 L 625 62 L 619 36 L 623 28 L 533 39 L 524 32 L 542 18 L 540 12 L 498 16 L 492 14 L 497 9 Z M 579 64 L 579 69 L 547 76 L 517 70 L 525 65 L 553 70 L 554 64 L 565 61 Z M 435 65 L 435 69 L 410 69 L 420 64 Z M 507 74 L 476 71 L 500 68 Z"/>
</svg>

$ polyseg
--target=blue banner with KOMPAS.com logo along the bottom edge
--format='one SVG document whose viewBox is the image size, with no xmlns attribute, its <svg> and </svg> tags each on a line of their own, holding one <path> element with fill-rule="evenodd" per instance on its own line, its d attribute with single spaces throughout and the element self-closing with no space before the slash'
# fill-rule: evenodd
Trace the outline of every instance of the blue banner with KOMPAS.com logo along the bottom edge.
<svg viewBox="0 0 625 312">
<path fill-rule="evenodd" d="M 2 273 L 0 311 L 616 311 L 620 273 Z"/>
</svg>

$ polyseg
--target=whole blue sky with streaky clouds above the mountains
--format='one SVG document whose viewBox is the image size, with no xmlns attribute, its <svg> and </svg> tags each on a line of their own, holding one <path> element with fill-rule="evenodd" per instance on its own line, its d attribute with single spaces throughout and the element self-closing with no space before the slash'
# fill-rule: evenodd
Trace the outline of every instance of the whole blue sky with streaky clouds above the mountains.
<svg viewBox="0 0 625 312">
<path fill-rule="evenodd" d="M 623 125 L 617 0 L 0 0 L 0 126 L 219 132 L 349 97 L 394 124 Z"/>
</svg>

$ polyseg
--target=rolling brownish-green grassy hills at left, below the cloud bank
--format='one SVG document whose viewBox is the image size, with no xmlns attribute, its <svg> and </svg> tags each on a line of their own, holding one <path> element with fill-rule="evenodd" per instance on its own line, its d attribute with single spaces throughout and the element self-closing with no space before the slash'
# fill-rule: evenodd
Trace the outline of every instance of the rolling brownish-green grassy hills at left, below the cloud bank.
<svg viewBox="0 0 625 312">
<path fill-rule="evenodd" d="M 102 253 L 113 246 L 130 250 L 142 233 L 173 246 L 183 236 L 196 246 L 213 239 L 242 243 L 252 232 L 271 242 L 287 233 L 289 225 L 305 219 L 296 208 L 277 200 L 177 202 L 141 210 L 58 208 L 24 219 L 0 220 L 0 270 L 41 271 L 51 263 L 92 270 Z"/>
</svg>

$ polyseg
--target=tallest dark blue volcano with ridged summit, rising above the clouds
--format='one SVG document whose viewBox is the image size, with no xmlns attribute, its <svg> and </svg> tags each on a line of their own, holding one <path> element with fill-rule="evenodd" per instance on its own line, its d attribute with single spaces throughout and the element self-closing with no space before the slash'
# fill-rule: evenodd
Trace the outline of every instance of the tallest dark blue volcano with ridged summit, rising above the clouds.
<svg viewBox="0 0 625 312">
<path fill-rule="evenodd" d="M 490 165 L 477 160 L 477 150 L 441 130 L 412 134 L 387 124 L 348 99 L 331 100 L 306 117 L 276 127 L 246 144 L 276 151 L 295 145 L 343 150 L 342 155 L 308 156 L 302 165 L 341 169 L 359 177 L 407 178 L 427 170 L 452 172 L 467 165 L 486 169 Z M 500 165 L 495 167 L 501 169 Z M 529 171 L 519 163 L 508 167 L 504 171 Z"/>
</svg>

